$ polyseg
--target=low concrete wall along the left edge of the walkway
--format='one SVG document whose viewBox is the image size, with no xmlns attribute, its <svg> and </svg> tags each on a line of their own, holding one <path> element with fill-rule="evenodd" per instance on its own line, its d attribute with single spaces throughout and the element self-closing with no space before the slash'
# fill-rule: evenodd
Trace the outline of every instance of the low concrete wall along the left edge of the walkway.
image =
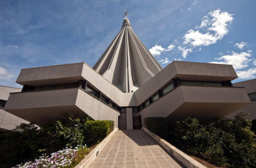
<svg viewBox="0 0 256 168">
<path fill-rule="evenodd" d="M 94 150 L 92 150 L 80 163 L 78 163 L 75 168 L 89 168 L 94 160 L 99 156 L 100 152 L 105 148 L 106 144 L 110 141 L 112 136 L 116 133 L 118 128 L 115 128 L 108 136 L 106 136 L 100 143 L 97 145 Z"/>
</svg>

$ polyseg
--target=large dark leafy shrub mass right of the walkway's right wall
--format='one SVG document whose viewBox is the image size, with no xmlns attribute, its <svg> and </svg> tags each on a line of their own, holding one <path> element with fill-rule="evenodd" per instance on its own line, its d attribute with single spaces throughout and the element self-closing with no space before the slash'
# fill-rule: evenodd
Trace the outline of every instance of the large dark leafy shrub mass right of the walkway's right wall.
<svg viewBox="0 0 256 168">
<path fill-rule="evenodd" d="M 189 155 L 228 167 L 256 167 L 255 134 L 251 121 L 238 114 L 203 127 L 196 118 L 175 123 L 173 145 Z"/>
</svg>

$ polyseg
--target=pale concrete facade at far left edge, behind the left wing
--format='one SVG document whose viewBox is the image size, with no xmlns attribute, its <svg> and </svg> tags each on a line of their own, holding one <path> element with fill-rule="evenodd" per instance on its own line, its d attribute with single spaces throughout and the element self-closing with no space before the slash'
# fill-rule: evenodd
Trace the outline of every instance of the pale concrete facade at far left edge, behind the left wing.
<svg viewBox="0 0 256 168">
<path fill-rule="evenodd" d="M 10 92 L 20 92 L 22 89 L 15 87 L 0 86 L 0 100 L 7 101 Z M 0 107 L 0 132 L 12 130 L 20 123 L 29 123 L 28 121 L 19 118 Z"/>
</svg>

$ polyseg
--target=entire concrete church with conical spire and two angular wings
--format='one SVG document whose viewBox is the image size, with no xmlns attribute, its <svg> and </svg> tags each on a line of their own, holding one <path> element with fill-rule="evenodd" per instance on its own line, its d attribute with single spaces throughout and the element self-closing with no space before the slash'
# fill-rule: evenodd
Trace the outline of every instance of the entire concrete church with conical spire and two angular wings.
<svg viewBox="0 0 256 168">
<path fill-rule="evenodd" d="M 84 62 L 22 69 L 4 110 L 42 125 L 62 112 L 110 119 L 119 129 L 140 129 L 145 117 L 170 125 L 185 117 L 210 123 L 250 104 L 233 86 L 232 65 L 158 63 L 124 18 L 120 32 L 91 68 Z"/>
</svg>

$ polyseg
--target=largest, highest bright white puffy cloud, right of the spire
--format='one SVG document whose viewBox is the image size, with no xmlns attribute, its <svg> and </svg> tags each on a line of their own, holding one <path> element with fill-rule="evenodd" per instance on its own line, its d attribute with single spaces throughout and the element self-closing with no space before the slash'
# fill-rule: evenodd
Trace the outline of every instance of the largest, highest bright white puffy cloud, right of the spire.
<svg viewBox="0 0 256 168">
<path fill-rule="evenodd" d="M 228 26 L 233 20 L 233 14 L 228 12 L 221 12 L 220 9 L 209 12 L 209 16 L 204 16 L 202 18 L 202 23 L 200 26 L 197 26 L 197 29 L 207 28 L 208 32 L 201 33 L 194 30 L 189 30 L 183 36 L 183 44 L 196 46 L 207 46 L 210 44 L 216 43 L 218 40 L 221 40 L 224 35 L 228 32 Z"/>
</svg>

